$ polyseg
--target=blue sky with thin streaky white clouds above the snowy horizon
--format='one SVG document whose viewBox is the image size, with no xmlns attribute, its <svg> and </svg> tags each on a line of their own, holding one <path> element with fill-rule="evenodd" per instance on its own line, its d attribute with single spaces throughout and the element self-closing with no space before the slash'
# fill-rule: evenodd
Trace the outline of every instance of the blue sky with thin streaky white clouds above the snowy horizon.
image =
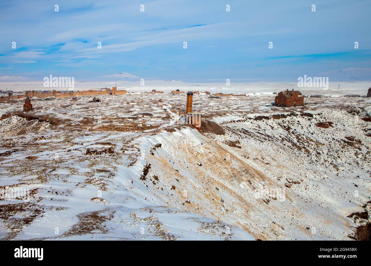
<svg viewBox="0 0 371 266">
<path fill-rule="evenodd" d="M 54 2 L 0 0 L 0 77 L 371 80 L 369 0 Z"/>
</svg>

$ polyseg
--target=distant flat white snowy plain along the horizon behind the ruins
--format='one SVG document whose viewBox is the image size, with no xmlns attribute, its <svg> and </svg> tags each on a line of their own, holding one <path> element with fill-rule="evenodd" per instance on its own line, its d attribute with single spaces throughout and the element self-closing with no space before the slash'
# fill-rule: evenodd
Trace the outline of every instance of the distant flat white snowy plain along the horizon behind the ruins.
<svg viewBox="0 0 371 266">
<path fill-rule="evenodd" d="M 142 86 L 143 85 L 143 86 Z M 230 80 L 230 85 L 222 83 L 187 83 L 181 81 L 151 81 L 145 80 L 144 83 L 138 81 L 75 81 L 76 91 L 86 91 L 89 89 L 111 88 L 117 86 L 117 89 L 126 89 L 129 92 L 150 92 L 152 89 L 157 91 L 171 92 L 175 89 L 180 91 L 209 91 L 212 93 L 262 93 L 272 95 L 273 92 L 286 89 L 300 90 L 305 95 L 324 95 L 324 96 L 344 96 L 344 95 L 366 95 L 370 88 L 370 82 L 366 81 L 329 81 L 328 88 L 299 88 L 298 82 L 246 82 L 234 83 Z M 44 90 L 68 90 L 68 88 L 44 88 L 43 82 L 0 82 L 0 89 L 5 91 L 44 91 Z"/>
</svg>

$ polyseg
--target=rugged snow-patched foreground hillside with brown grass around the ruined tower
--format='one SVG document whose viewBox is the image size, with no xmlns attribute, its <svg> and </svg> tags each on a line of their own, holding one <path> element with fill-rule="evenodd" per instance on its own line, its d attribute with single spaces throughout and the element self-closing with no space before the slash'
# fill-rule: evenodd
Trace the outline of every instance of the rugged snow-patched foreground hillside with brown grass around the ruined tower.
<svg viewBox="0 0 371 266">
<path fill-rule="evenodd" d="M 0 239 L 351 240 L 370 221 L 347 217 L 370 212 L 371 98 L 343 96 L 365 88 L 277 108 L 272 87 L 195 87 L 247 96 L 194 95 L 201 132 L 170 93 L 33 98 L 0 120 Z"/>
</svg>

